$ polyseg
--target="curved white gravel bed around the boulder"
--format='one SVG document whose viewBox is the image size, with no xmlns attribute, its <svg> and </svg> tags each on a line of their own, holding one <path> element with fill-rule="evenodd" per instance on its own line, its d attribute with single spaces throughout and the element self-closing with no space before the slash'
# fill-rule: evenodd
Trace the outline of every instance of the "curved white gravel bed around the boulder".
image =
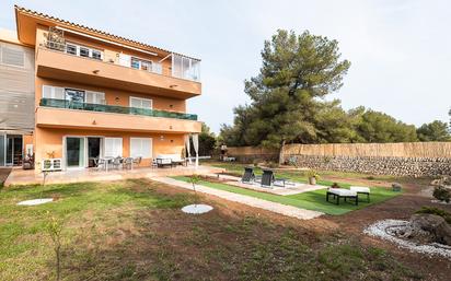
<svg viewBox="0 0 451 281">
<path fill-rule="evenodd" d="M 409 241 L 405 241 L 394 236 L 392 233 L 396 230 L 404 229 L 408 221 L 402 220 L 382 220 L 378 221 L 363 230 L 365 234 L 380 237 L 396 244 L 400 248 L 406 248 L 410 251 L 421 253 L 428 256 L 442 256 L 451 259 L 451 247 L 437 243 L 421 245 Z"/>
</svg>

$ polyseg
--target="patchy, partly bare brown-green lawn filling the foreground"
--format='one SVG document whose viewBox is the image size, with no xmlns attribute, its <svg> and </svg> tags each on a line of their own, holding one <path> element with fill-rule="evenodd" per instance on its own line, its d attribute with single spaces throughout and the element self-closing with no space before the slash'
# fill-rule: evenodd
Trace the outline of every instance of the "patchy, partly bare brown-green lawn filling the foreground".
<svg viewBox="0 0 451 281">
<path fill-rule="evenodd" d="M 54 197 L 55 202 L 16 202 Z M 55 280 L 49 218 L 63 223 L 62 280 L 412 280 L 358 237 L 315 232 L 147 179 L 0 189 L 0 280 Z"/>
</svg>

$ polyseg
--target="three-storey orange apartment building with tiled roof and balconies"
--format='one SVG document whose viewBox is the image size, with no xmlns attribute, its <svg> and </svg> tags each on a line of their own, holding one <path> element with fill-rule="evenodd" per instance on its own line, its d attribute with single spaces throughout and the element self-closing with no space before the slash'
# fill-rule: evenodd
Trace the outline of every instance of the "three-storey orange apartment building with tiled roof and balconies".
<svg viewBox="0 0 451 281">
<path fill-rule="evenodd" d="M 63 169 L 103 156 L 141 156 L 146 166 L 182 154 L 200 132 L 186 113 L 201 94 L 199 59 L 20 7 L 15 20 L 15 39 L 0 33 L 0 165 L 33 152 Z M 16 84 L 13 72 L 23 72 Z"/>
</svg>

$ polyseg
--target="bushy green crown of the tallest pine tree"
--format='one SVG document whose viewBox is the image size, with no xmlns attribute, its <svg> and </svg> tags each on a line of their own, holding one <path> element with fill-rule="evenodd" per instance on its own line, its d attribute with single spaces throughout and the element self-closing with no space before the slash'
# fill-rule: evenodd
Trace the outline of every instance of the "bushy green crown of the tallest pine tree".
<svg viewBox="0 0 451 281">
<path fill-rule="evenodd" d="M 287 141 L 317 138 L 314 115 L 321 98 L 342 87 L 350 66 L 340 60 L 338 43 L 279 30 L 265 42 L 259 74 L 245 81 L 251 104 L 235 108 L 238 142 L 282 148 Z"/>
</svg>

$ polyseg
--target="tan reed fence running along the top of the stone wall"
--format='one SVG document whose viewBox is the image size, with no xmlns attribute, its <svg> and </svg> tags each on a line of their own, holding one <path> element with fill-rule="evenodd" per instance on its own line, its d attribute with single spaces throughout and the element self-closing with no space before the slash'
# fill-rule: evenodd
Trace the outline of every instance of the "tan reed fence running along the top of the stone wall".
<svg viewBox="0 0 451 281">
<path fill-rule="evenodd" d="M 228 149 L 231 156 L 278 153 L 278 150 L 253 147 Z M 287 144 L 284 156 L 290 155 L 451 159 L 451 142 Z"/>
</svg>

